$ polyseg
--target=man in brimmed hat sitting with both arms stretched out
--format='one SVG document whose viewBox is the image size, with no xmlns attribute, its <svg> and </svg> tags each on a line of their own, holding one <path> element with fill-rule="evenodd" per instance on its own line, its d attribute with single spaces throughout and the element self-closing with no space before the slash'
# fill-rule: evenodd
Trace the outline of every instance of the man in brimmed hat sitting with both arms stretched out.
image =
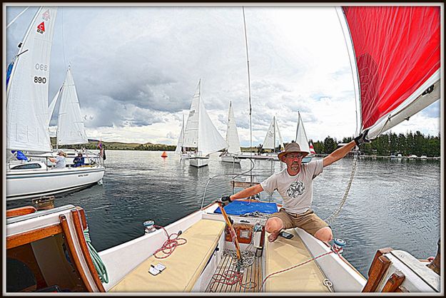
<svg viewBox="0 0 446 298">
<path fill-rule="evenodd" d="M 319 240 L 330 242 L 333 239 L 330 226 L 310 208 L 313 202 L 313 179 L 322 173 L 324 167 L 347 155 L 355 145 L 370 142 L 366 136 L 367 131 L 325 158 L 306 164 L 303 164 L 302 160 L 308 152 L 300 150 L 298 143 L 289 143 L 285 146 L 285 150 L 278 154 L 280 161 L 287 165 L 285 170 L 275 173 L 258 185 L 248 187 L 234 195 L 223 196 L 221 200 L 232 202 L 257 195 L 263 190 L 269 193 L 278 190 L 283 199 L 283 208 L 273 213 L 265 224 L 265 230 L 270 233 L 268 240 L 275 241 L 281 230 L 300 227 Z"/>
</svg>

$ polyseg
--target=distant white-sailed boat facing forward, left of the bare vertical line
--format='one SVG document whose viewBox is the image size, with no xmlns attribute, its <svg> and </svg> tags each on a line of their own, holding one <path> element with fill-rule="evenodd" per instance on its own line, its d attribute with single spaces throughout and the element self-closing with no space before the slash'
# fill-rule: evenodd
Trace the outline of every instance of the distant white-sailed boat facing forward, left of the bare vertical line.
<svg viewBox="0 0 446 298">
<path fill-rule="evenodd" d="M 201 80 L 198 81 L 184 130 L 184 148 L 196 148 L 188 158 L 189 165 L 200 168 L 208 165 L 209 154 L 228 148 L 223 137 L 213 125 L 208 112 L 201 101 Z M 187 151 L 186 151 L 187 152 Z M 188 151 L 192 153 L 192 151 Z"/>
</svg>

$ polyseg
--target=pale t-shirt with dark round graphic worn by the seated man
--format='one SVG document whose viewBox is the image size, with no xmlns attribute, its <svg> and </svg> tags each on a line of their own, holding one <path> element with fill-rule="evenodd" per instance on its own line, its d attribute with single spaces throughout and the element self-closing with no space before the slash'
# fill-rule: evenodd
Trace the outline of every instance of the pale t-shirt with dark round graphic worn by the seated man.
<svg viewBox="0 0 446 298">
<path fill-rule="evenodd" d="M 298 175 L 291 176 L 287 169 L 264 180 L 263 190 L 272 194 L 277 190 L 283 199 L 285 210 L 293 213 L 303 213 L 310 209 L 313 202 L 313 179 L 323 170 L 323 160 L 313 160 L 300 167 Z"/>
</svg>

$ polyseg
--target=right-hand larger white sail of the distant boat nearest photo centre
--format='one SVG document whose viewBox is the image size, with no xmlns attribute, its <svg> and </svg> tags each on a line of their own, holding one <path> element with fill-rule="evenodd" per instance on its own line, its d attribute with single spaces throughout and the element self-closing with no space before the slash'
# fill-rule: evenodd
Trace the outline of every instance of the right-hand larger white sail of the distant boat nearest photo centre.
<svg viewBox="0 0 446 298">
<path fill-rule="evenodd" d="M 225 139 L 218 133 L 217 128 L 209 118 L 203 101 L 199 101 L 198 105 L 198 152 L 204 156 L 228 148 Z"/>
</svg>

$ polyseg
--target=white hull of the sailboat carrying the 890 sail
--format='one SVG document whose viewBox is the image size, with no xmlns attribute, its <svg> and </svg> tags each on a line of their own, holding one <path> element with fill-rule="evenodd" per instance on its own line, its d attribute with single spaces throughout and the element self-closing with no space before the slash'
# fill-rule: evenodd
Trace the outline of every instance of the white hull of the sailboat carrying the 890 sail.
<svg viewBox="0 0 446 298">
<path fill-rule="evenodd" d="M 20 200 L 76 190 L 102 180 L 105 168 L 81 167 L 6 173 L 6 200 Z"/>
</svg>

